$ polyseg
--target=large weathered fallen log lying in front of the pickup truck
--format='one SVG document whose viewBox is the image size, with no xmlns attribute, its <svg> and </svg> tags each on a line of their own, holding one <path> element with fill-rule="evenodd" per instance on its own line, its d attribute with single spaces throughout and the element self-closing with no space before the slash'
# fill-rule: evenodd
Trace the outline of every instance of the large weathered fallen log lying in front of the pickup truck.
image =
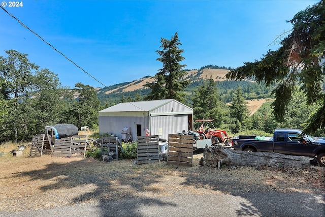
<svg viewBox="0 0 325 217">
<path fill-rule="evenodd" d="M 309 167 L 310 158 L 303 156 L 290 156 L 274 152 L 248 152 L 239 151 L 220 145 L 205 148 L 204 157 L 200 165 L 212 168 L 226 166 L 269 166 L 269 167 Z M 218 166 L 219 165 L 219 166 Z"/>
</svg>

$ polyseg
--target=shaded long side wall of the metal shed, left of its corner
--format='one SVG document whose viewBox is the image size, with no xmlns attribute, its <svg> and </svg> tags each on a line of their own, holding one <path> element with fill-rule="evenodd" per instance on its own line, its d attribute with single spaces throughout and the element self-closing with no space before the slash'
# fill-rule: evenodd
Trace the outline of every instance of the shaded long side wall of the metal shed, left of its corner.
<svg viewBox="0 0 325 217">
<path fill-rule="evenodd" d="M 131 127 L 133 140 L 137 140 L 137 125 L 141 125 L 141 136 L 144 136 L 148 124 L 148 117 L 99 116 L 99 133 L 110 133 L 120 138 L 123 128 Z"/>
</svg>

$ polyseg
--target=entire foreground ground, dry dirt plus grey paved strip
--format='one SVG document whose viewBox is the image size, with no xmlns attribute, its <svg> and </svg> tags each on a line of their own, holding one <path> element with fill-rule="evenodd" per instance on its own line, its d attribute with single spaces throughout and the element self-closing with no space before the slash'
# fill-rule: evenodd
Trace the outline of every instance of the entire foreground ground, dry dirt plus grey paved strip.
<svg viewBox="0 0 325 217">
<path fill-rule="evenodd" d="M 324 216 L 320 167 L 0 159 L 0 216 Z"/>
</svg>

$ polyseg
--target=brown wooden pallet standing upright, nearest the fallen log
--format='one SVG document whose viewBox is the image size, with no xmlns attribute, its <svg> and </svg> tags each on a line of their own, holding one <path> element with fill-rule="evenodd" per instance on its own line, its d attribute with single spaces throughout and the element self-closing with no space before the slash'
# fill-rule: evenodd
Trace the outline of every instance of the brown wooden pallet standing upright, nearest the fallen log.
<svg viewBox="0 0 325 217">
<path fill-rule="evenodd" d="M 192 166 L 193 136 L 169 134 L 167 164 Z"/>
</svg>

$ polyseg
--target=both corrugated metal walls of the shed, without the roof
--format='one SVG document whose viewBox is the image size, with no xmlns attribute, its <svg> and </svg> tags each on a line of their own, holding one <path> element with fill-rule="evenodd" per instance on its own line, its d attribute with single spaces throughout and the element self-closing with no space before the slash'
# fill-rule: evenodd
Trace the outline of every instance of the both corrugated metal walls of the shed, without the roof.
<svg viewBox="0 0 325 217">
<path fill-rule="evenodd" d="M 185 113 L 185 114 L 184 114 Z M 177 101 L 171 101 L 150 111 L 114 111 L 100 112 L 100 134 L 111 133 L 118 138 L 124 127 L 131 127 L 133 140 L 137 139 L 137 125 L 141 125 L 141 136 L 146 134 L 146 128 L 151 135 L 158 135 L 158 130 L 163 130 L 160 138 L 168 139 L 168 134 L 177 134 L 188 130 L 188 115 L 193 116 L 193 110 Z"/>
</svg>

